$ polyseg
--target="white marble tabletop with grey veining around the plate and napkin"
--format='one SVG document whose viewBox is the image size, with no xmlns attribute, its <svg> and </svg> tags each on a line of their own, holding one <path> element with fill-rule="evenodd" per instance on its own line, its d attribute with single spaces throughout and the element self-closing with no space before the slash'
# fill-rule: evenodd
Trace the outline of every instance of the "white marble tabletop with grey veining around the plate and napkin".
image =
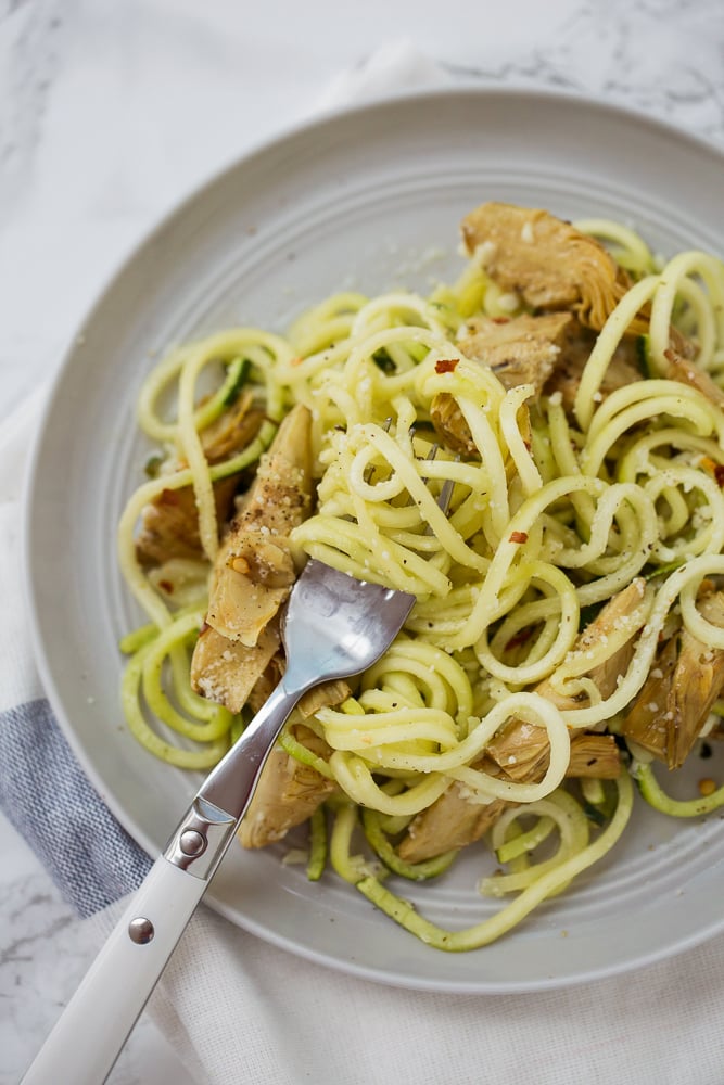
<svg viewBox="0 0 724 1085">
<path fill-rule="evenodd" d="M 724 140 L 721 0 L 0 0 L 0 418 L 54 371 L 100 284 L 162 212 L 402 39 L 448 78 L 564 87 Z M 92 947 L 4 818 L 0 844 L 9 1085 Z M 112 1077 L 188 1080 L 148 1021 Z"/>
</svg>

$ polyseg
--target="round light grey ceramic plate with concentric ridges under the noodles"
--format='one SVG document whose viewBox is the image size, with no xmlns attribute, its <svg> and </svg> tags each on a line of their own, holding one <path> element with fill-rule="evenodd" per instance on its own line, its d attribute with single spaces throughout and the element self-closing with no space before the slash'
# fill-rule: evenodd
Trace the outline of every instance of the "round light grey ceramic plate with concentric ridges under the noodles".
<svg viewBox="0 0 724 1085">
<path fill-rule="evenodd" d="M 126 731 L 117 640 L 138 622 L 115 525 L 147 449 L 134 403 L 151 358 L 226 324 L 282 328 L 343 286 L 428 290 L 455 273 L 457 229 L 501 199 L 568 218 L 613 216 L 655 248 L 724 253 L 722 155 L 637 115 L 556 94 L 453 90 L 340 114 L 232 166 L 167 218 L 105 290 L 73 345 L 38 441 L 27 560 L 38 656 L 89 777 L 156 854 L 196 781 Z M 701 771 L 706 767 L 706 773 Z M 713 775 L 712 762 L 694 766 Z M 623 843 L 511 935 L 475 953 L 430 949 L 282 847 L 233 848 L 215 908 L 303 957 L 382 982 L 457 992 L 560 986 L 634 968 L 724 927 L 717 817 L 675 821 L 642 803 Z M 445 880 L 405 885 L 434 921 L 480 921 L 485 866 L 471 850 Z"/>
</svg>

